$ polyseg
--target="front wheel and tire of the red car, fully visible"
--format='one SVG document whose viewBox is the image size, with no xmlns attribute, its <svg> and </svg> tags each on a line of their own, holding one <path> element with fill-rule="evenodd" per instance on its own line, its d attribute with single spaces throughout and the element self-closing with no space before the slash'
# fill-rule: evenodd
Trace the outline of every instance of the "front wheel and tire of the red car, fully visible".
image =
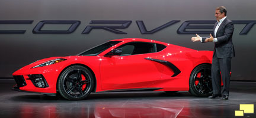
<svg viewBox="0 0 256 118">
<path fill-rule="evenodd" d="M 73 65 L 60 75 L 57 89 L 62 97 L 68 100 L 82 100 L 94 88 L 91 71 L 81 65 Z"/>
</svg>

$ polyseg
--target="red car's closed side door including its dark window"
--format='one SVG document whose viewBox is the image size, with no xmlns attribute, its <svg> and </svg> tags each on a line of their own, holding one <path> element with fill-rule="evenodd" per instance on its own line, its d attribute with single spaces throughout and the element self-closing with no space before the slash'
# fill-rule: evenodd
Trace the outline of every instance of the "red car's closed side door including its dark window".
<svg viewBox="0 0 256 118">
<path fill-rule="evenodd" d="M 120 47 L 122 53 L 103 57 L 100 64 L 103 89 L 135 89 L 151 87 L 162 76 L 164 65 L 146 58 L 164 60 L 164 52 L 156 52 L 149 42 L 130 42 Z"/>
</svg>

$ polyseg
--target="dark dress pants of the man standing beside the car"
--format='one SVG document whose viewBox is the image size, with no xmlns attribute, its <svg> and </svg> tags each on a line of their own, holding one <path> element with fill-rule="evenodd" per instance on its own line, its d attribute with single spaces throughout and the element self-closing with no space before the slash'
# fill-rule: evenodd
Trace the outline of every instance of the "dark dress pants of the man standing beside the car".
<svg viewBox="0 0 256 118">
<path fill-rule="evenodd" d="M 213 54 L 212 60 L 212 87 L 213 94 L 229 95 L 229 81 L 231 71 L 231 58 L 218 58 Z M 221 74 L 220 74 L 221 72 Z M 221 77 L 223 81 L 223 88 L 221 89 Z"/>
</svg>

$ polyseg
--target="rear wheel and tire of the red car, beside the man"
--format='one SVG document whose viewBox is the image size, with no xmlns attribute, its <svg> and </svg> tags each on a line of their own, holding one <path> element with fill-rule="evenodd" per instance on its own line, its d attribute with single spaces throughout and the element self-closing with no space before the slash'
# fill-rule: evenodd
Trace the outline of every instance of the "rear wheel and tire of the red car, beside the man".
<svg viewBox="0 0 256 118">
<path fill-rule="evenodd" d="M 201 64 L 194 68 L 190 74 L 189 85 L 189 92 L 193 96 L 210 96 L 213 93 L 211 66 L 207 64 Z"/>
</svg>

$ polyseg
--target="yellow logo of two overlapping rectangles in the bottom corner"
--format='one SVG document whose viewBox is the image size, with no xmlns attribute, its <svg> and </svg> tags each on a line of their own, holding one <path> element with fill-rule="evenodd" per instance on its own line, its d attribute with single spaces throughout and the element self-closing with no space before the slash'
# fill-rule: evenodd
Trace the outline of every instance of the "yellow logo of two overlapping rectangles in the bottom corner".
<svg viewBox="0 0 256 118">
<path fill-rule="evenodd" d="M 254 104 L 240 104 L 239 110 L 235 110 L 235 116 L 244 116 L 244 113 L 254 113 Z"/>
</svg>

